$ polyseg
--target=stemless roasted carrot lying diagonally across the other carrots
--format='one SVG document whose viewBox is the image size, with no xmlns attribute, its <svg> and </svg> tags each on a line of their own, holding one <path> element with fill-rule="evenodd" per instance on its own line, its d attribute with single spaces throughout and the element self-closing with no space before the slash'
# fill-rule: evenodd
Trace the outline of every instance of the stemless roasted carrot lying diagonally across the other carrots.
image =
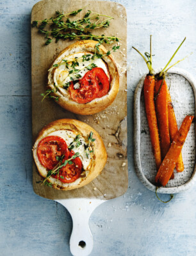
<svg viewBox="0 0 196 256">
<path fill-rule="evenodd" d="M 158 173 L 156 174 L 155 182 L 158 185 L 167 185 L 168 180 L 172 176 L 172 172 L 174 171 L 177 159 L 179 158 L 179 154 L 183 148 L 183 144 L 186 140 L 193 118 L 194 116 L 186 116 L 179 131 L 177 131 L 172 145 L 170 146 L 170 149 L 161 163 Z"/>
</svg>

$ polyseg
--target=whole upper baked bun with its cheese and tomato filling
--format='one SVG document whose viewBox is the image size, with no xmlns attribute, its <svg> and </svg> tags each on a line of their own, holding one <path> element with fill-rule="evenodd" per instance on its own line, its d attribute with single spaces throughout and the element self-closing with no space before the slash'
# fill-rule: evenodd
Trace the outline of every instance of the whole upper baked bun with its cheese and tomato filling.
<svg viewBox="0 0 196 256">
<path fill-rule="evenodd" d="M 48 86 L 53 96 L 58 97 L 61 107 L 76 114 L 98 113 L 106 109 L 118 93 L 117 65 L 111 54 L 106 54 L 104 46 L 96 49 L 97 43 L 85 40 L 71 44 L 61 51 L 49 69 Z"/>
</svg>

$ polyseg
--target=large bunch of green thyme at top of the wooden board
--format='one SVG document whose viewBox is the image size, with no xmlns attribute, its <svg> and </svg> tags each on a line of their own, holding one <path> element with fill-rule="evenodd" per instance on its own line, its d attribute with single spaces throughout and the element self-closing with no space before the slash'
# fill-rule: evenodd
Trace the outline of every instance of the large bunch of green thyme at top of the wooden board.
<svg viewBox="0 0 196 256">
<path fill-rule="evenodd" d="M 45 35 L 46 45 L 50 44 L 53 39 L 55 39 L 56 42 L 58 42 L 60 39 L 90 39 L 102 41 L 107 44 L 119 41 L 119 38 L 115 36 L 94 35 L 91 32 L 91 30 L 99 28 L 108 28 L 108 26 L 110 26 L 110 21 L 114 19 L 111 16 L 97 14 L 96 12 L 88 10 L 82 19 L 76 19 L 74 21 L 69 19 L 69 15 L 77 15 L 82 10 L 83 9 L 79 9 L 70 12 L 69 14 L 63 14 L 57 11 L 55 17 L 44 19 L 43 21 L 33 21 L 32 26 L 38 28 L 38 32 Z M 101 21 L 101 17 L 106 17 L 106 19 Z"/>
</svg>

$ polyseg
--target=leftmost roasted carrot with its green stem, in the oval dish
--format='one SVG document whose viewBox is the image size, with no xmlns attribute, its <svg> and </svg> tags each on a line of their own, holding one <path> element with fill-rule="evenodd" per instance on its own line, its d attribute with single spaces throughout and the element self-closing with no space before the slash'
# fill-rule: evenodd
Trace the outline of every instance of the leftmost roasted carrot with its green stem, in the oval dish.
<svg viewBox="0 0 196 256">
<path fill-rule="evenodd" d="M 133 47 L 138 53 L 135 47 Z M 145 53 L 145 57 L 140 53 L 143 60 L 147 64 L 149 69 L 149 74 L 146 75 L 145 80 L 143 82 L 143 92 L 144 92 L 144 101 L 145 101 L 145 112 L 147 114 L 147 121 L 149 124 L 149 132 L 151 136 L 151 144 L 152 144 L 152 152 L 154 154 L 155 162 L 156 162 L 156 169 L 159 169 L 161 165 L 161 149 L 159 143 L 159 133 L 158 133 L 158 125 L 156 120 L 156 112 L 154 106 L 154 70 L 152 69 L 152 41 L 150 44 L 150 54 Z"/>
</svg>

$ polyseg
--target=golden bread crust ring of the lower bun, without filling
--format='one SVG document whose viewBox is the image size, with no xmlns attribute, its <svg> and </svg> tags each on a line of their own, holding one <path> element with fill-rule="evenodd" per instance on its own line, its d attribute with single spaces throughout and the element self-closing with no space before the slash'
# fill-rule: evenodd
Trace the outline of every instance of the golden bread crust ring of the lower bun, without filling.
<svg viewBox="0 0 196 256">
<path fill-rule="evenodd" d="M 104 168 L 104 165 L 106 164 L 107 161 L 107 153 L 106 153 L 106 148 L 104 147 L 104 143 L 102 142 L 101 136 L 95 131 L 90 125 L 87 125 L 86 123 L 83 123 L 78 120 L 74 119 L 60 119 L 56 120 L 52 123 L 49 123 L 46 125 L 38 134 L 37 140 L 35 141 L 35 145 L 33 146 L 33 158 L 35 160 L 35 163 L 37 165 L 38 172 L 40 176 L 43 178 L 46 177 L 46 171 L 43 172 L 41 168 L 40 161 L 38 161 L 37 158 L 37 145 L 40 140 L 45 138 L 49 133 L 53 133 L 54 131 L 59 131 L 59 130 L 72 130 L 72 131 L 77 131 L 77 133 L 81 134 L 81 136 L 86 137 L 90 134 L 90 132 L 93 133 L 93 138 L 95 138 L 94 143 L 94 157 L 92 159 L 91 165 L 90 165 L 90 170 L 88 174 L 85 177 L 79 178 L 79 182 L 73 182 L 73 183 L 66 183 L 67 187 L 62 187 L 61 186 L 61 181 L 58 181 L 58 184 L 56 183 L 56 179 L 54 178 L 49 178 L 47 181 L 52 183 L 52 186 L 56 189 L 60 190 L 72 190 L 75 188 L 80 188 L 88 183 L 90 183 L 93 179 L 95 179 L 102 171 Z M 77 181 L 77 180 L 76 180 Z"/>
</svg>

